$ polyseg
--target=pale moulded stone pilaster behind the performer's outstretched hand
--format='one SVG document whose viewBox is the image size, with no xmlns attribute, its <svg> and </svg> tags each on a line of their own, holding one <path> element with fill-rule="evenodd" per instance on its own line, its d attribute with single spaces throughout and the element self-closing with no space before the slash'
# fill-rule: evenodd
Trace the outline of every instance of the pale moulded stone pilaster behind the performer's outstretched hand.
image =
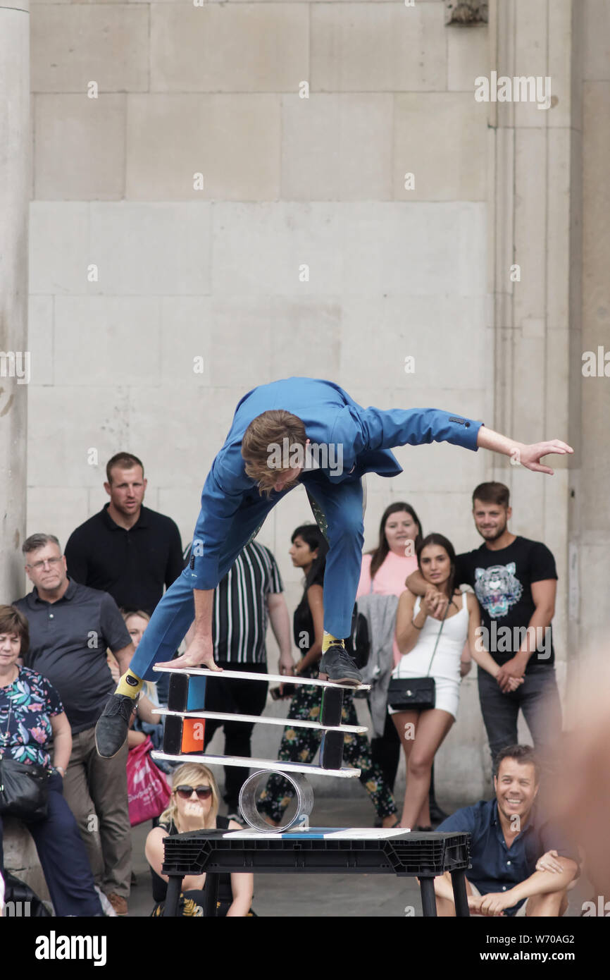
<svg viewBox="0 0 610 980">
<path fill-rule="evenodd" d="M 578 390 L 570 386 L 571 298 L 580 288 L 580 102 L 578 4 L 574 0 L 493 0 L 491 68 L 500 75 L 550 79 L 542 100 L 491 101 L 490 277 L 495 347 L 494 426 L 516 439 L 578 439 L 571 424 Z M 579 67 L 577 64 L 577 73 Z M 576 94 L 576 98 L 575 98 Z M 560 682 L 568 659 L 569 474 L 578 460 L 555 457 L 553 477 L 493 461 L 491 478 L 510 486 L 513 527 L 543 541 L 559 575 L 553 620 Z M 575 652 L 575 651 L 573 651 Z"/>
</svg>

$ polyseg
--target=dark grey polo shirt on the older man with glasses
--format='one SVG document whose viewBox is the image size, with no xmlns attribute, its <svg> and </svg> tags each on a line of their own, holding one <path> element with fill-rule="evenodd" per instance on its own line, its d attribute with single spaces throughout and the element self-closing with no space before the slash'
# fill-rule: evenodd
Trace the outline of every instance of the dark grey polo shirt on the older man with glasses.
<svg viewBox="0 0 610 980">
<path fill-rule="evenodd" d="M 51 681 L 72 734 L 92 728 L 117 686 L 106 648 L 117 653 L 131 643 L 117 603 L 107 592 L 69 579 L 68 589 L 55 603 L 40 599 L 33 588 L 13 605 L 29 626 L 27 666 Z"/>
</svg>

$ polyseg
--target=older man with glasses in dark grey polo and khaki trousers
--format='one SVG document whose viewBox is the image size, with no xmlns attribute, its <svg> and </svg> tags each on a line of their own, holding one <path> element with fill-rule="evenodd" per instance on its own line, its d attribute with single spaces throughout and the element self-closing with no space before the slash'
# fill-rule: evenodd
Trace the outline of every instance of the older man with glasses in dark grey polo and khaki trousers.
<svg viewBox="0 0 610 980">
<path fill-rule="evenodd" d="M 110 647 L 122 672 L 133 645 L 112 596 L 68 577 L 54 535 L 32 534 L 23 542 L 23 555 L 34 588 L 13 605 L 29 625 L 27 666 L 56 688 L 72 730 L 64 796 L 78 821 L 96 884 L 117 914 L 126 914 L 131 878 L 127 744 L 114 759 L 101 759 L 94 731 L 115 687 L 106 650 Z"/>
</svg>

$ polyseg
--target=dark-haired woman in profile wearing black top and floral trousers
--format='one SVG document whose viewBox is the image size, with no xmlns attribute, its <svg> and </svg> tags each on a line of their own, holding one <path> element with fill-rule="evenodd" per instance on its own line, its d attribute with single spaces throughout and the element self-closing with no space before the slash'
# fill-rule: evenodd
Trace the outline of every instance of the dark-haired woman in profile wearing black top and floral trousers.
<svg viewBox="0 0 610 980">
<path fill-rule="evenodd" d="M 300 677 L 317 677 L 318 661 L 322 656 L 322 592 L 328 545 L 316 524 L 302 524 L 297 527 L 291 540 L 289 554 L 292 562 L 305 572 L 303 597 L 293 618 L 295 644 L 301 651 L 301 662 L 297 664 L 295 673 Z M 319 721 L 321 704 L 321 687 L 298 684 L 292 696 L 288 717 Z M 343 693 L 342 722 L 348 725 L 358 724 L 349 691 Z M 310 762 L 317 752 L 320 740 L 319 729 L 298 726 L 285 728 L 277 758 L 282 761 Z M 394 826 L 397 807 L 380 767 L 371 760 L 370 746 L 365 735 L 344 735 L 344 762 L 360 769 L 360 782 L 377 810 L 382 826 Z M 292 795 L 290 783 L 279 775 L 272 775 L 260 796 L 258 809 L 269 823 L 279 825 Z"/>
</svg>

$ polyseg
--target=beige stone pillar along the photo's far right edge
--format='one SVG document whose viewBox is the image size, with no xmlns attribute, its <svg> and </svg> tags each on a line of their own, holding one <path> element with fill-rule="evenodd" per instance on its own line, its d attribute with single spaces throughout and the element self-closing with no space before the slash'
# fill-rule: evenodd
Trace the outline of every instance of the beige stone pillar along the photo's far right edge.
<svg viewBox="0 0 610 980">
<path fill-rule="evenodd" d="M 583 660 L 608 658 L 610 635 L 610 6 L 584 0 L 583 20 L 583 290 L 582 336 L 575 338 L 582 395 L 580 508 L 575 507 L 575 559 L 580 565 L 580 595 L 574 596 L 575 642 Z M 583 373 L 583 355 L 595 355 L 593 374 Z M 607 361 L 599 358 L 605 355 Z M 578 498 L 577 498 L 578 499 Z M 576 501 L 575 501 L 576 504 Z"/>
</svg>

